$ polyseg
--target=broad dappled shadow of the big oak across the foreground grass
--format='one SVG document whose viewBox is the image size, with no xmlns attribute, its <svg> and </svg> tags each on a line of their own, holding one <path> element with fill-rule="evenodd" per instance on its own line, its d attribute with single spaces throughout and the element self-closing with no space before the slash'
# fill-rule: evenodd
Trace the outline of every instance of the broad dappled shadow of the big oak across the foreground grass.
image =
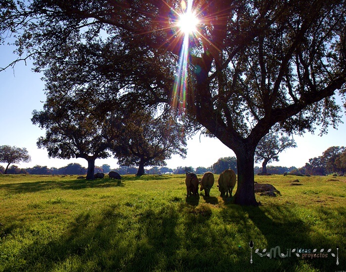
<svg viewBox="0 0 346 272">
<path fill-rule="evenodd" d="M 249 229 L 256 229 L 256 235 L 244 234 Z M 237 239 L 238 233 L 246 237 L 245 245 L 255 242 L 252 265 L 250 248 L 234 248 L 231 239 Z M 20 271 L 303 271 L 297 269 L 303 261 L 311 271 L 338 270 L 333 266 L 335 258 L 269 259 L 254 253 L 261 240 L 268 249 L 330 248 L 332 241 L 322 239 L 323 233 L 317 234 L 319 243 L 311 233 L 309 225 L 288 207 L 228 205 L 214 213 L 204 203 L 177 202 L 143 209 L 113 204 L 78 214 L 62 233 L 45 236 L 52 237 L 49 240 L 38 233 L 13 260 L 25 260 Z M 225 242 L 227 234 L 229 242 Z M 6 269 L 11 271 L 9 266 Z"/>
</svg>

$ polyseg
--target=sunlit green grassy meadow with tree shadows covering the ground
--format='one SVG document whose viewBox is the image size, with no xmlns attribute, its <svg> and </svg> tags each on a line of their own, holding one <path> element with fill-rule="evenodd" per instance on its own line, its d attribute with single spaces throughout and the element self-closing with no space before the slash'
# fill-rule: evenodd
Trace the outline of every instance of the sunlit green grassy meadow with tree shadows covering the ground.
<svg viewBox="0 0 346 272">
<path fill-rule="evenodd" d="M 259 207 L 221 198 L 215 177 L 186 198 L 185 175 L 0 175 L 0 271 L 346 271 L 346 177 L 256 176 L 281 192 Z M 288 257 L 255 253 L 276 246 Z"/>
</svg>

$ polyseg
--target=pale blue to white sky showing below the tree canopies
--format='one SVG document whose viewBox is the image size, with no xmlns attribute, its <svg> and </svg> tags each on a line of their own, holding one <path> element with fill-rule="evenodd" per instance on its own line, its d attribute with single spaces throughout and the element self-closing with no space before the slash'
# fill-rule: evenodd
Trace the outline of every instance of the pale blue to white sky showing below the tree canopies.
<svg viewBox="0 0 346 272">
<path fill-rule="evenodd" d="M 0 45 L 0 67 L 6 66 L 17 57 L 12 54 L 13 48 Z M 32 65 L 27 62 L 17 63 L 14 69 L 8 68 L 0 72 L 0 145 L 17 146 L 26 148 L 31 155 L 29 163 L 17 164 L 20 168 L 42 165 L 48 167 L 62 167 L 71 162 L 77 162 L 87 167 L 85 159 L 55 159 L 48 158 L 44 149 L 38 149 L 36 141 L 44 135 L 44 131 L 31 123 L 33 110 L 41 110 L 45 100 L 43 93 L 44 83 L 41 75 L 31 71 Z M 306 133 L 303 137 L 295 136 L 297 148 L 289 149 L 279 155 L 279 161 L 268 165 L 296 166 L 302 167 L 309 158 L 322 155 L 323 151 L 331 146 L 346 146 L 346 118 L 343 114 L 344 124 L 340 124 L 338 130 L 329 129 L 329 133 L 322 137 Z M 224 146 L 219 140 L 196 135 L 188 140 L 187 156 L 182 159 L 173 156 L 167 160 L 167 166 L 176 168 L 178 166 L 209 167 L 220 157 L 234 156 L 234 153 Z M 109 164 L 111 168 L 118 167 L 117 160 L 96 159 L 95 164 Z M 5 164 L 1 164 L 5 166 Z M 257 164 L 260 166 L 260 164 Z"/>
</svg>

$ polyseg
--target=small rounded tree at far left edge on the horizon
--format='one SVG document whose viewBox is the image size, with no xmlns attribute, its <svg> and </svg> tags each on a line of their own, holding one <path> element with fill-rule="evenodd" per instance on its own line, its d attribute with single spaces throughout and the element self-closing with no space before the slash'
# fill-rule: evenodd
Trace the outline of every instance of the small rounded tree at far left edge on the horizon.
<svg viewBox="0 0 346 272">
<path fill-rule="evenodd" d="M 26 148 L 18 148 L 11 146 L 0 146 L 0 162 L 7 163 L 4 174 L 7 174 L 8 166 L 11 163 L 20 163 L 31 161 L 31 157 L 28 154 Z"/>
</svg>

